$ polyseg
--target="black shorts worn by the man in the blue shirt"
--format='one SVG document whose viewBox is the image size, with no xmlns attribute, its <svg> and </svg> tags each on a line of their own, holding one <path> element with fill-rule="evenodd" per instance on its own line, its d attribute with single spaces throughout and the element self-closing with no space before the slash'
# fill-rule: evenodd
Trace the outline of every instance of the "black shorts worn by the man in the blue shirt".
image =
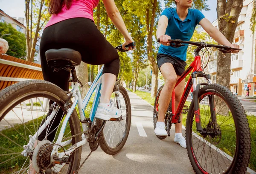
<svg viewBox="0 0 256 174">
<path fill-rule="evenodd" d="M 171 63 L 173 65 L 176 75 L 182 75 L 185 72 L 185 67 L 186 67 L 185 61 L 181 61 L 170 55 L 157 53 L 157 66 L 159 70 L 160 70 L 160 67 L 165 63 Z"/>
</svg>

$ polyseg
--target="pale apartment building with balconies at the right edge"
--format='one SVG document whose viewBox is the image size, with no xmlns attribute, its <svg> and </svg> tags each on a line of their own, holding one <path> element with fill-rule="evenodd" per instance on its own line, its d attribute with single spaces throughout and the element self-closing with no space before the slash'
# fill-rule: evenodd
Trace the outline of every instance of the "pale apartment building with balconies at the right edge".
<svg viewBox="0 0 256 174">
<path fill-rule="evenodd" d="M 231 54 L 230 65 L 230 90 L 238 96 L 245 96 L 247 87 L 250 89 L 250 96 L 256 96 L 256 31 L 253 34 L 250 30 L 254 1 L 243 1 L 233 40 L 242 49 L 239 53 Z M 218 27 L 217 20 L 212 24 Z M 207 67 L 207 72 L 212 75 L 212 82 L 216 82 L 217 61 L 217 51 L 214 51 Z"/>
</svg>

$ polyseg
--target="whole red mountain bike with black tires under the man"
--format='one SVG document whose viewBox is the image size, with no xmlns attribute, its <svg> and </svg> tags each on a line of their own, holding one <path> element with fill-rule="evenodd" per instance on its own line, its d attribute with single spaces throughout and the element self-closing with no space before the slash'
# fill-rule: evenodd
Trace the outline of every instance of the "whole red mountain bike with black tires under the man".
<svg viewBox="0 0 256 174">
<path fill-rule="evenodd" d="M 204 73 L 199 55 L 201 49 L 207 47 L 219 49 L 224 53 L 235 48 L 179 39 L 169 39 L 169 42 L 174 47 L 191 44 L 197 48 L 195 60 L 175 85 L 176 87 L 192 72 L 177 110 L 175 110 L 175 90 L 172 92 L 172 99 L 165 114 L 168 136 L 170 136 L 172 123 L 180 123 L 179 116 L 184 113 L 187 152 L 197 174 L 245 173 L 250 159 L 250 130 L 244 108 L 227 87 L 211 83 L 211 75 Z M 197 84 L 198 77 L 205 78 L 206 82 Z M 187 111 L 188 107 L 184 104 L 192 87 L 193 99 Z M 158 118 L 158 100 L 162 88 L 163 86 L 159 88 L 155 98 L 154 128 Z M 166 138 L 166 136 L 157 137 Z"/>
</svg>

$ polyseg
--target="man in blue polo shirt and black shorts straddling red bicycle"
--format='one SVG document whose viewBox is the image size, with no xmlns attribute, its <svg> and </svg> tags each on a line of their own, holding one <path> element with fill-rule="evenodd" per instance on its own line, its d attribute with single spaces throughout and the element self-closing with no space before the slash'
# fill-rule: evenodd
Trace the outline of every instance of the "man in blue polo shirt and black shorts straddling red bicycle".
<svg viewBox="0 0 256 174">
<path fill-rule="evenodd" d="M 187 46 L 175 48 L 169 46 L 168 39 L 180 39 L 189 41 L 192 38 L 195 27 L 199 24 L 203 29 L 221 45 L 239 48 L 236 44 L 230 44 L 225 36 L 207 20 L 204 15 L 195 9 L 189 9 L 193 0 L 175 0 L 176 9 L 165 9 L 161 14 L 157 27 L 157 38 L 160 38 L 160 48 L 157 53 L 157 66 L 165 79 L 165 85 L 159 98 L 159 115 L 154 130 L 158 136 L 167 136 L 164 125 L 164 115 L 172 97 L 177 78 L 182 75 L 186 67 Z M 233 53 L 238 52 L 231 50 Z M 185 79 L 175 88 L 175 106 L 178 107 L 184 91 Z M 180 123 L 175 124 L 174 142 L 186 148 L 185 138 L 181 134 L 182 115 Z"/>
</svg>

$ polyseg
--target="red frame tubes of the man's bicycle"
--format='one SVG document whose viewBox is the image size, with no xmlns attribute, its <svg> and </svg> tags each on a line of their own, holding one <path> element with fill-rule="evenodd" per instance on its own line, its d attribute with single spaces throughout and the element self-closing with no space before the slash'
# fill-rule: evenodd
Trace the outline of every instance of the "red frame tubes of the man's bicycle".
<svg viewBox="0 0 256 174">
<path fill-rule="evenodd" d="M 195 60 L 192 62 L 192 64 L 189 65 L 189 67 L 186 69 L 186 71 L 180 76 L 180 78 L 178 78 L 177 83 L 175 85 L 175 87 L 177 87 L 178 84 L 180 84 L 180 82 L 187 76 L 189 75 L 189 73 L 193 70 L 193 72 L 195 71 L 201 71 L 202 70 L 202 65 L 201 65 L 201 57 L 200 55 L 195 56 Z M 177 107 L 177 111 L 176 111 L 176 107 L 175 107 L 175 89 L 172 92 L 172 114 L 174 115 L 172 117 L 172 123 L 177 123 L 178 119 L 180 117 L 180 113 L 183 109 L 183 106 L 186 102 L 186 99 L 189 95 L 189 92 L 191 90 L 192 87 L 192 77 L 190 75 L 189 80 L 186 84 L 185 90 L 182 94 L 182 98 L 180 99 L 179 105 Z M 195 90 L 195 89 L 194 89 Z"/>
</svg>

